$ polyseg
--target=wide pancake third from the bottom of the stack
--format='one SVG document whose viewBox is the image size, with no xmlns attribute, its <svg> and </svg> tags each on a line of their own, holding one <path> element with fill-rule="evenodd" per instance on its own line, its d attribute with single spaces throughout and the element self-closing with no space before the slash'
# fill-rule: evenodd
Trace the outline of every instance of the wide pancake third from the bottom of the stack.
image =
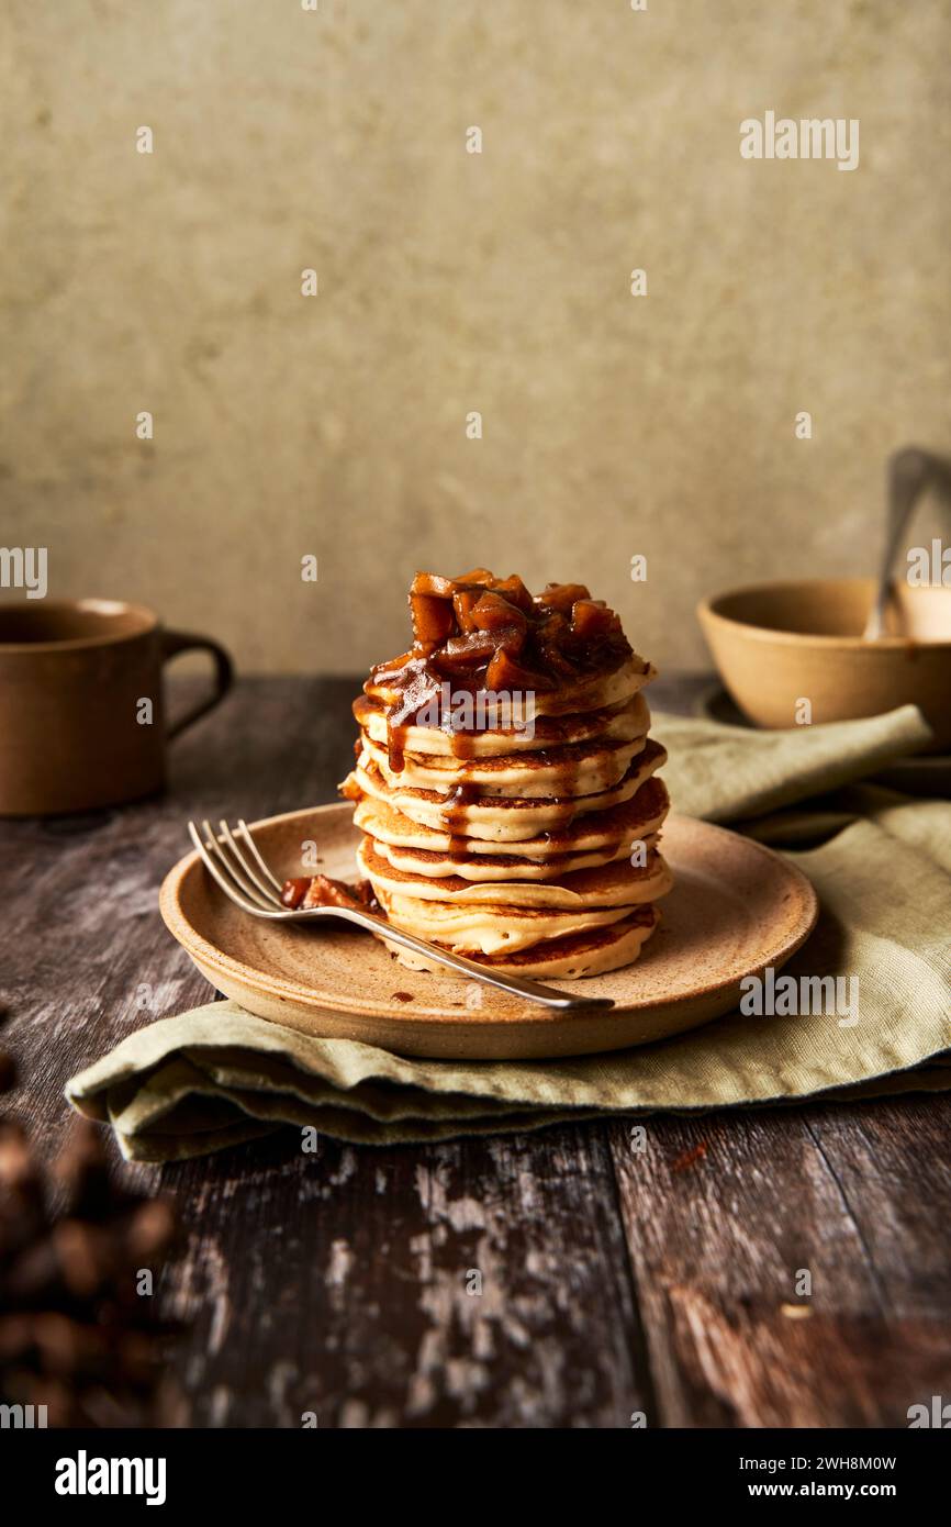
<svg viewBox="0 0 951 1527">
<path fill-rule="evenodd" d="M 408 895 L 423 901 L 447 901 L 459 904 L 519 906 L 519 907 L 633 907 L 644 901 L 664 896 L 673 878 L 666 860 L 656 847 L 647 852 L 644 864 L 632 864 L 630 855 L 614 860 L 597 869 L 580 869 L 562 873 L 557 883 L 542 878 L 524 880 L 525 861 L 514 860 L 511 878 L 466 880 L 463 875 L 412 873 L 400 869 L 386 855 L 385 844 L 376 844 L 365 837 L 357 849 L 357 866 L 372 886 L 377 901 L 388 896 Z M 542 867 L 542 866 L 537 866 Z M 517 876 L 517 878 L 516 878 Z"/>
</svg>

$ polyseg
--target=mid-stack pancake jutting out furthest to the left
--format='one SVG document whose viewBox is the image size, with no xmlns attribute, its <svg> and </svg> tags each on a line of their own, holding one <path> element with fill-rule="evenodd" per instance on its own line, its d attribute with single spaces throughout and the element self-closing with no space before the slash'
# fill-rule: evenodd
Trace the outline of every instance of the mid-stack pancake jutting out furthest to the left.
<svg viewBox="0 0 951 1527">
<path fill-rule="evenodd" d="M 647 750 L 644 748 L 646 753 Z M 458 797 L 453 799 L 453 796 L 434 789 L 388 785 L 376 764 L 363 757 L 357 760 L 357 767 L 350 777 L 360 793 L 395 806 L 403 815 L 424 826 L 441 828 L 444 831 L 449 828 L 456 837 L 479 838 L 490 843 L 517 843 L 525 838 L 537 838 L 542 834 L 557 832 L 579 815 L 589 812 L 600 814 L 611 806 L 621 805 L 630 800 L 632 796 L 637 796 L 646 782 L 659 786 L 656 796 L 646 799 L 662 799 L 662 820 L 667 811 L 667 793 L 659 780 L 650 780 L 650 774 L 659 767 L 662 757 L 666 757 L 662 748 L 659 748 L 659 756 L 638 756 L 618 785 L 614 785 L 611 789 L 597 791 L 592 796 L 574 796 L 568 799 L 490 796 L 476 800 L 459 800 Z M 647 828 L 646 831 L 653 832 L 656 828 Z"/>
</svg>

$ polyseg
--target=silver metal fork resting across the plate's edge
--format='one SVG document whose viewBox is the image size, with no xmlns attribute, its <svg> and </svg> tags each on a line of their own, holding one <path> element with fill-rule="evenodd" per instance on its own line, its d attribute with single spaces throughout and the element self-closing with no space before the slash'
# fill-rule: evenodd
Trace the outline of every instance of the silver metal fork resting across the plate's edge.
<svg viewBox="0 0 951 1527">
<path fill-rule="evenodd" d="M 403 928 L 394 927 L 386 918 L 379 918 L 372 912 L 351 907 L 302 907 L 292 912 L 281 902 L 281 881 L 264 863 L 247 823 L 238 818 L 234 832 L 227 822 L 220 822 L 218 826 L 220 832 L 215 834 L 211 823 L 203 822 L 201 831 L 205 840 L 201 840 L 194 822 L 188 823 L 188 831 L 208 873 L 227 899 L 234 901 L 235 907 L 241 907 L 241 912 L 247 912 L 252 918 L 269 918 L 272 922 L 310 922 L 313 918 L 340 918 L 343 922 L 356 922 L 359 928 L 385 933 L 391 944 L 400 944 L 403 948 L 426 954 L 427 959 L 438 960 L 440 965 L 455 970 L 459 976 L 469 976 L 470 980 L 481 980 L 487 986 L 501 986 L 502 991 L 510 991 L 516 997 L 527 997 L 528 1002 L 539 1002 L 542 1006 L 554 1008 L 559 1012 L 574 1012 L 579 1008 L 614 1006 L 611 997 L 575 997 L 563 991 L 556 991 L 554 986 L 543 986 L 542 982 L 530 980 L 527 976 L 502 976 L 473 959 L 466 959 L 463 954 L 453 954 L 450 950 L 438 948 L 435 944 L 426 944 L 423 939 L 414 938 L 412 933 L 405 933 Z M 238 846 L 238 838 L 241 838 L 241 846 Z"/>
</svg>

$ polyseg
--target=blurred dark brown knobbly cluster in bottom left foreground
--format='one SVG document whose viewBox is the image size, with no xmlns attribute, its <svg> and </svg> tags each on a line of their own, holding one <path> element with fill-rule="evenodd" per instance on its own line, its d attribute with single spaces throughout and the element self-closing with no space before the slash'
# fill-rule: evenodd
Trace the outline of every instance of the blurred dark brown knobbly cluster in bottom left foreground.
<svg viewBox="0 0 951 1527">
<path fill-rule="evenodd" d="M 15 1066 L 0 1051 L 0 1092 Z M 0 1403 L 46 1405 L 49 1426 L 168 1426 L 171 1328 L 139 1293 L 174 1232 L 160 1199 L 122 1188 L 96 1125 L 76 1119 L 52 1170 L 0 1116 Z"/>
</svg>

